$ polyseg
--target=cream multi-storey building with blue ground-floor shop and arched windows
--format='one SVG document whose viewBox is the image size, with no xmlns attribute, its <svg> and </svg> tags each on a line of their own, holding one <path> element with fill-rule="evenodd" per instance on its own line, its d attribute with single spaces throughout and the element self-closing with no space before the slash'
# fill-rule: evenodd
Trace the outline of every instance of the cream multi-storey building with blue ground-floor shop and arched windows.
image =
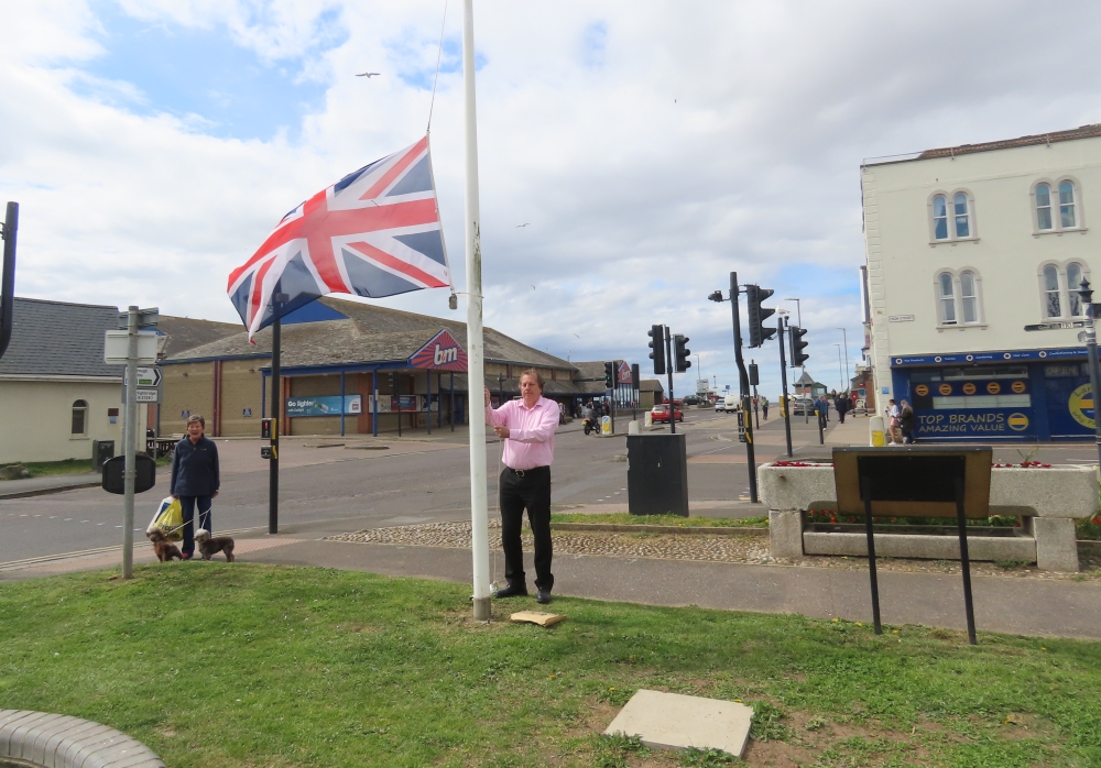
<svg viewBox="0 0 1101 768">
<path fill-rule="evenodd" d="M 931 439 L 1091 437 L 1101 125 L 868 161 L 861 189 L 880 407 L 909 401 Z"/>
</svg>

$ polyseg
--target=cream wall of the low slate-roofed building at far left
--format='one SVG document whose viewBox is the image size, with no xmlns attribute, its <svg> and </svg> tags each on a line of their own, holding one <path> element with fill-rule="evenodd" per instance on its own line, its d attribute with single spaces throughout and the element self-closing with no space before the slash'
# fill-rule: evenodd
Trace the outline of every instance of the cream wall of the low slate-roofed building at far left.
<svg viewBox="0 0 1101 768">
<path fill-rule="evenodd" d="M 73 404 L 81 399 L 88 404 L 85 434 L 73 435 Z M 111 408 L 119 413 L 113 425 Z M 138 408 L 141 435 L 145 413 Z M 115 383 L 0 381 L 0 463 L 90 459 L 92 440 L 115 440 L 116 453 L 122 450 L 121 376 Z"/>
</svg>

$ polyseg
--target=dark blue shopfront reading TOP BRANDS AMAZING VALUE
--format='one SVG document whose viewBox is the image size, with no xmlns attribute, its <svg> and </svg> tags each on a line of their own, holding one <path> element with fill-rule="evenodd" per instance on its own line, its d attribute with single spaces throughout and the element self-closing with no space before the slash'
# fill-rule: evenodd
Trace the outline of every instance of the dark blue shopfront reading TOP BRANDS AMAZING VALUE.
<svg viewBox="0 0 1101 768">
<path fill-rule="evenodd" d="M 1084 347 L 894 356 L 891 380 L 895 399 L 914 408 L 919 440 L 1093 438 Z"/>
</svg>

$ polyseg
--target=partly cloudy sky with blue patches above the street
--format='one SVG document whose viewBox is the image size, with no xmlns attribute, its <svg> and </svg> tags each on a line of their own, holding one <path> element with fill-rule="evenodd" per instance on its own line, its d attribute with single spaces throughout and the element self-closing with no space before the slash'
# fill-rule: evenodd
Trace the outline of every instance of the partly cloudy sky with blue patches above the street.
<svg viewBox="0 0 1101 768">
<path fill-rule="evenodd" d="M 17 294 L 239 321 L 229 272 L 303 199 L 422 136 L 430 107 L 461 298 L 461 4 L 12 3 Z M 851 375 L 862 160 L 1101 121 L 1095 2 L 475 6 L 486 325 L 645 377 L 667 325 L 693 352 L 678 395 L 698 374 L 738 388 L 730 305 L 707 300 L 731 272 L 802 318 L 818 381 L 839 387 L 846 356 Z M 465 320 L 447 293 L 379 303 Z M 776 342 L 745 356 L 774 399 Z"/>
</svg>

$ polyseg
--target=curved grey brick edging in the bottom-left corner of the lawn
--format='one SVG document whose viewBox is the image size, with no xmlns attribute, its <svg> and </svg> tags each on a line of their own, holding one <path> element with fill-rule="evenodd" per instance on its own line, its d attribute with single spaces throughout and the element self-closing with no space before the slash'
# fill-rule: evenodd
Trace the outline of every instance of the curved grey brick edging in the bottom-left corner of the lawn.
<svg viewBox="0 0 1101 768">
<path fill-rule="evenodd" d="M 43 768 L 166 768 L 141 742 L 81 717 L 0 710 L 0 759 Z"/>
</svg>

